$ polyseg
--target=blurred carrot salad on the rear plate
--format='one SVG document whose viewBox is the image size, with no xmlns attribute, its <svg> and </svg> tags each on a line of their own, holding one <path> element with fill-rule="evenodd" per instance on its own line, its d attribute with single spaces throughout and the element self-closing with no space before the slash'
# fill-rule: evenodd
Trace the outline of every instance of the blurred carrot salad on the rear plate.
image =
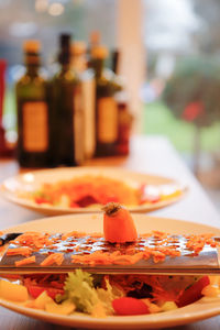
<svg viewBox="0 0 220 330">
<path fill-rule="evenodd" d="M 68 208 L 87 208 L 103 206 L 110 201 L 127 206 L 155 204 L 183 194 L 179 187 L 169 185 L 168 190 L 150 187 L 145 184 L 131 186 L 122 180 L 107 176 L 85 175 L 57 182 L 43 184 L 42 187 L 29 195 L 37 205 L 50 205 Z"/>
</svg>

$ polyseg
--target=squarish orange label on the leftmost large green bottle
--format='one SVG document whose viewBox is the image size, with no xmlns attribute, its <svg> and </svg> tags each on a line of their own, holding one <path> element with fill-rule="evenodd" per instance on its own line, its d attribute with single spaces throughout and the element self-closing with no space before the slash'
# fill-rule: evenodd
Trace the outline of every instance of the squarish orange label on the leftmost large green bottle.
<svg viewBox="0 0 220 330">
<path fill-rule="evenodd" d="M 48 119 L 45 102 L 23 103 L 23 148 L 45 152 L 48 147 Z"/>
</svg>

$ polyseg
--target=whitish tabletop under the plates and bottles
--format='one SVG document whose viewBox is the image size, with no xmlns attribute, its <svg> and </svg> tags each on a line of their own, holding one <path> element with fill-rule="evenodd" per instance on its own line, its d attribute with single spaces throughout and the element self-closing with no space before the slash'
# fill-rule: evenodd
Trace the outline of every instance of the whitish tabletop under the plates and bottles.
<svg viewBox="0 0 220 330">
<path fill-rule="evenodd" d="M 182 219 L 220 228 L 220 216 L 211 200 L 169 141 L 163 136 L 133 136 L 131 152 L 128 157 L 95 158 L 88 161 L 85 165 L 120 166 L 140 173 L 180 180 L 189 187 L 187 196 L 177 204 L 151 212 L 151 216 Z M 0 182 L 25 170 L 30 169 L 21 169 L 14 160 L 0 160 Z M 0 198 L 0 230 L 40 218 L 43 218 L 43 216 Z M 4 308 L 0 308 L 0 329 L 3 330 L 68 329 L 34 320 Z M 220 317 L 172 329 L 205 330 L 208 328 L 212 330 L 220 329 Z"/>
</svg>

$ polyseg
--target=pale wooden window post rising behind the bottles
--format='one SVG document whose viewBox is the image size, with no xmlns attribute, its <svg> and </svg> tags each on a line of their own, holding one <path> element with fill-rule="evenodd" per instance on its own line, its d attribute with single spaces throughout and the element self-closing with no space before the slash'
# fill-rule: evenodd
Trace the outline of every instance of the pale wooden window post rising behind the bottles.
<svg viewBox="0 0 220 330">
<path fill-rule="evenodd" d="M 119 73 L 125 80 L 130 106 L 134 114 L 134 131 L 142 131 L 140 89 L 146 76 L 143 37 L 144 4 L 142 0 L 117 1 L 117 46 L 121 53 Z"/>
</svg>

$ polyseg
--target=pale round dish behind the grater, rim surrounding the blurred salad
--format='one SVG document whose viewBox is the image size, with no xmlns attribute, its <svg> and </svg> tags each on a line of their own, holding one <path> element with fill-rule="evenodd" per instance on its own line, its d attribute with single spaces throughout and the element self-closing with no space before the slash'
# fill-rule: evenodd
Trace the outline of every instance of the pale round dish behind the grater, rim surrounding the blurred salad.
<svg viewBox="0 0 220 330">
<path fill-rule="evenodd" d="M 13 204 L 47 216 L 100 211 L 101 205 L 98 204 L 90 207 L 78 207 L 77 205 L 70 207 L 64 202 L 57 205 L 40 202 L 38 200 L 36 202 L 36 199 L 33 197 L 37 191 L 41 191 L 44 184 L 54 186 L 63 182 L 68 185 L 69 182 L 82 177 L 90 177 L 95 180 L 96 178 L 112 179 L 125 185 L 130 190 L 142 189 L 141 187 L 144 187 L 143 194 L 147 196 L 146 201 L 143 200 L 140 205 L 125 205 L 130 211 L 135 212 L 147 212 L 167 207 L 179 201 L 188 191 L 188 187 L 182 183 L 151 174 L 135 173 L 114 167 L 65 167 L 33 170 L 7 178 L 1 184 L 0 193 L 2 197 Z"/>
</svg>

